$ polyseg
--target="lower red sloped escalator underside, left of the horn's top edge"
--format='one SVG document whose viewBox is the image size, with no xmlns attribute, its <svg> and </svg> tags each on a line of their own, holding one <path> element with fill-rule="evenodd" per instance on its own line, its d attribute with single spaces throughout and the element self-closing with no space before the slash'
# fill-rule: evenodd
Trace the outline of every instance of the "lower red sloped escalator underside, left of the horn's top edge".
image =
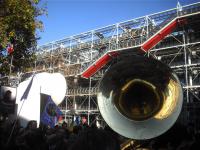
<svg viewBox="0 0 200 150">
<path fill-rule="evenodd" d="M 118 52 L 109 52 L 100 57 L 94 64 L 88 67 L 83 73 L 82 77 L 89 78 L 106 65 L 113 57 L 118 56 Z"/>
</svg>

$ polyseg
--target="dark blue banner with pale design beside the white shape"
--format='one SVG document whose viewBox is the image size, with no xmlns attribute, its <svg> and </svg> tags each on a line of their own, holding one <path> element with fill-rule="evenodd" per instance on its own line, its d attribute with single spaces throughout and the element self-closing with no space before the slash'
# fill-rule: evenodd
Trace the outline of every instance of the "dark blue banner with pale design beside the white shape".
<svg viewBox="0 0 200 150">
<path fill-rule="evenodd" d="M 54 128 L 60 118 L 62 112 L 51 99 L 51 96 L 40 94 L 40 123 Z"/>
</svg>

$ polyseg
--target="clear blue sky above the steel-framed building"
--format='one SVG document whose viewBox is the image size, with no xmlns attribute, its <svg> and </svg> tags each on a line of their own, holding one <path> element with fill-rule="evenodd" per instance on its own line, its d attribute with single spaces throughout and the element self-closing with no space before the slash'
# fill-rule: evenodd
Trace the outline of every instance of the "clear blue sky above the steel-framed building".
<svg viewBox="0 0 200 150">
<path fill-rule="evenodd" d="M 179 0 L 187 5 L 200 0 Z M 41 0 L 47 16 L 38 45 L 176 7 L 177 0 Z"/>
</svg>

